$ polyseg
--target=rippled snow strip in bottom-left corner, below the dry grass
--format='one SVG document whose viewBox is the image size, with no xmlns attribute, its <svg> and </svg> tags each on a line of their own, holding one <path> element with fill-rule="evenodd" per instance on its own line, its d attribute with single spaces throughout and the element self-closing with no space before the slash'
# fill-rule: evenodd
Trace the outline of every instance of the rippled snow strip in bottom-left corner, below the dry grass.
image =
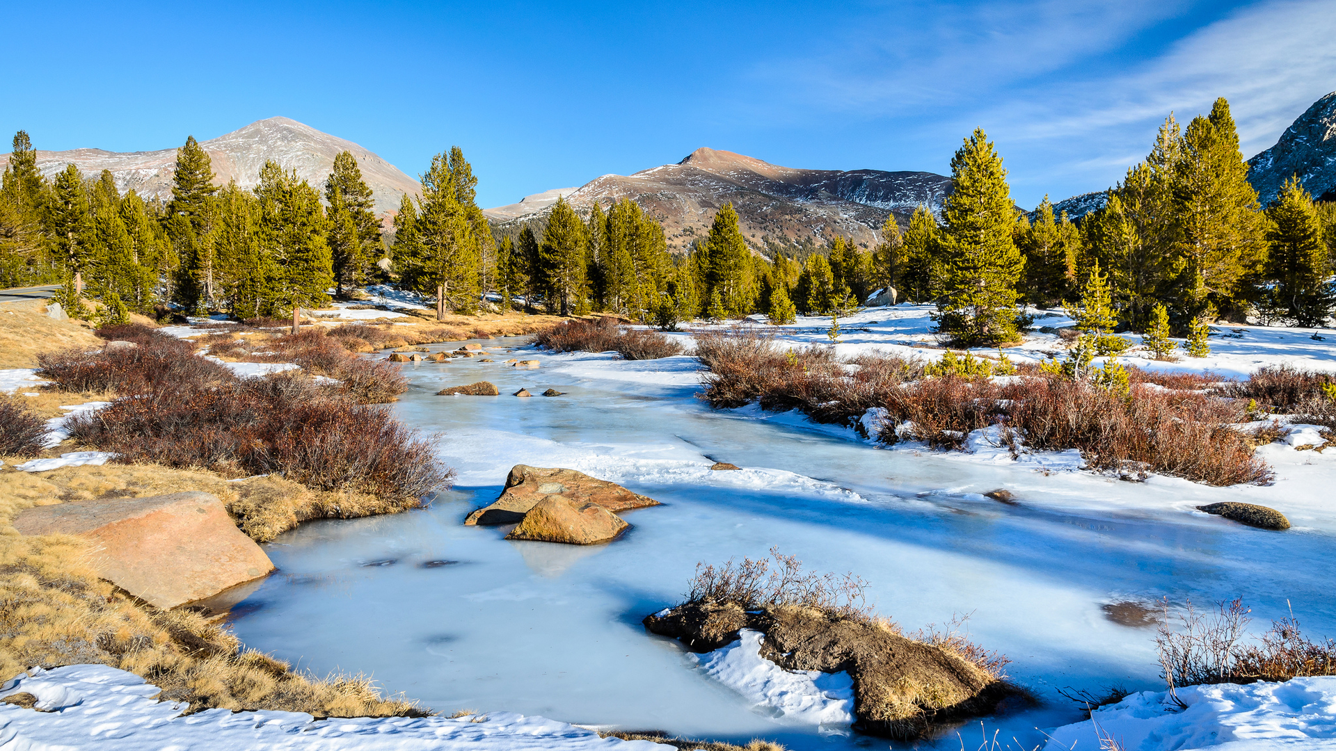
<svg viewBox="0 0 1336 751">
<path fill-rule="evenodd" d="M 446 718 L 351 718 L 315 722 L 305 712 L 206 710 L 180 716 L 186 704 L 158 702 L 156 686 L 107 665 L 33 669 L 0 688 L 28 692 L 37 708 L 0 704 L 0 747 L 27 751 L 99 748 L 227 748 L 228 751 L 318 748 L 321 751 L 584 751 L 616 747 L 663 751 L 645 740 L 599 738 L 592 730 L 536 716 L 493 712 Z"/>
</svg>

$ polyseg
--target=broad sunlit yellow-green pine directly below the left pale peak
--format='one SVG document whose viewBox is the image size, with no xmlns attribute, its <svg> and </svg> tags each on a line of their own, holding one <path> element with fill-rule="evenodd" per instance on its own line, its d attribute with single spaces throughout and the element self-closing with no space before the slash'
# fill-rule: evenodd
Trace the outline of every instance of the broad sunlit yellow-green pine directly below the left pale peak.
<svg viewBox="0 0 1336 751">
<path fill-rule="evenodd" d="M 257 235 L 271 271 L 266 291 L 274 313 L 293 313 L 303 305 L 329 299 L 334 266 L 325 237 L 319 194 L 297 171 L 265 162 L 255 186 L 259 220 Z"/>
</svg>

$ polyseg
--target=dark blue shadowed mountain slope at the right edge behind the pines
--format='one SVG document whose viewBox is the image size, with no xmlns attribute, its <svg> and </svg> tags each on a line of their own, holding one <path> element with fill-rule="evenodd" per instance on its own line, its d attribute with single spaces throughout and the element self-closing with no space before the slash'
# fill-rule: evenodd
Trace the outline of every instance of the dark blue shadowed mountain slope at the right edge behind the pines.
<svg viewBox="0 0 1336 751">
<path fill-rule="evenodd" d="M 1296 174 L 1313 198 L 1336 200 L 1336 91 L 1315 102 L 1276 146 L 1249 159 L 1248 167 L 1248 180 L 1263 206 L 1269 206 Z"/>
</svg>

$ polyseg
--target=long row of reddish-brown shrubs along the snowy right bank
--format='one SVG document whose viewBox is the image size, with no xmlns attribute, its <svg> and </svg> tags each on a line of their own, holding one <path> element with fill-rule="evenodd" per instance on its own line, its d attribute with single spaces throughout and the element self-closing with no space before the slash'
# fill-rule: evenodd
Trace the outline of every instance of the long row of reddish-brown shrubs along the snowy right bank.
<svg viewBox="0 0 1336 751">
<path fill-rule="evenodd" d="M 701 398 L 715 408 L 759 402 L 798 409 L 816 422 L 859 425 L 886 410 L 878 438 L 962 449 L 971 430 L 998 426 L 1015 452 L 1079 449 L 1100 470 L 1129 465 L 1208 485 L 1271 481 L 1269 466 L 1232 425 L 1246 420 L 1241 400 L 1208 393 L 1202 376 L 1168 377 L 1128 367 L 1125 389 L 1017 366 L 1019 378 L 991 378 L 997 361 L 967 370 L 926 367 L 895 355 L 839 359 L 828 347 L 782 350 L 774 338 L 739 330 L 703 334 Z M 981 361 L 986 362 L 986 361 Z"/>
</svg>

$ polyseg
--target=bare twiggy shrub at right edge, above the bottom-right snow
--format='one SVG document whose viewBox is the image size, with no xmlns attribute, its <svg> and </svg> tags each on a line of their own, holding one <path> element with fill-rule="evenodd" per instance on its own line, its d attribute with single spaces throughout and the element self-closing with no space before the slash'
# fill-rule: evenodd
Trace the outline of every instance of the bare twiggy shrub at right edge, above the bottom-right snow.
<svg viewBox="0 0 1336 751">
<path fill-rule="evenodd" d="M 1336 640 L 1304 636 L 1293 612 L 1272 620 L 1261 636 L 1248 639 L 1252 612 L 1242 600 L 1217 603 L 1201 612 L 1188 604 L 1170 613 L 1168 600 L 1156 636 L 1161 678 L 1176 687 L 1210 683 L 1284 682 L 1336 675 Z"/>
</svg>

